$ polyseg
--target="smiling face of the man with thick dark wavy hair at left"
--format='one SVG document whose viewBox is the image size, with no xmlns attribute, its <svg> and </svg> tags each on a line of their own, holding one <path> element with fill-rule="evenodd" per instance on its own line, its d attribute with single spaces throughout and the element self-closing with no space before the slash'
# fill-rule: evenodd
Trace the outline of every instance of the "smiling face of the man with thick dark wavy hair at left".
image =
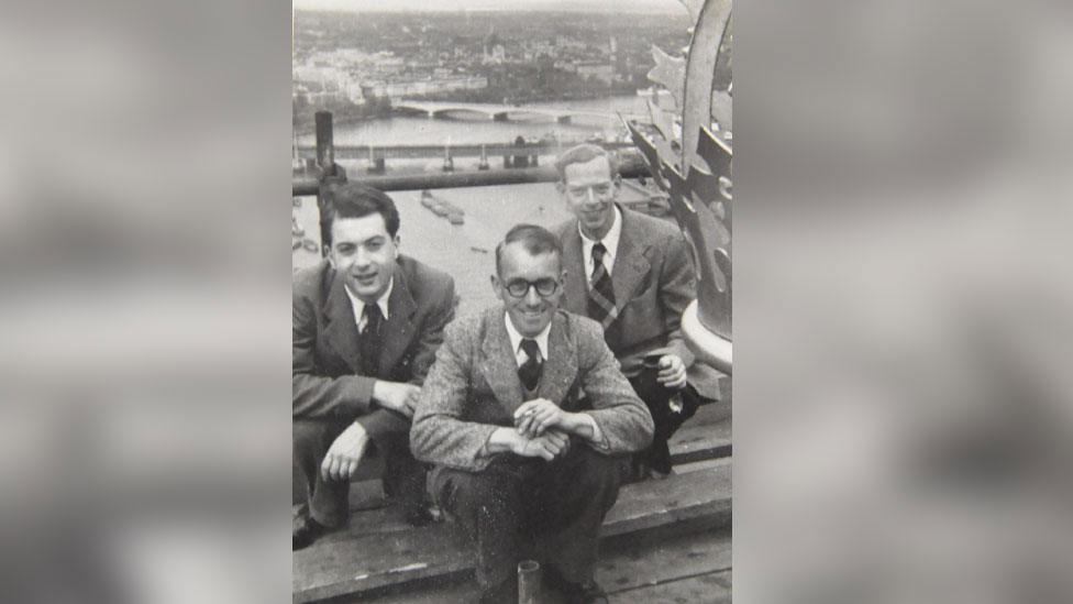
<svg viewBox="0 0 1073 604">
<path fill-rule="evenodd" d="M 328 259 L 343 274 L 346 288 L 362 301 L 374 303 L 395 275 L 399 238 L 387 232 L 384 217 L 336 218 Z"/>
</svg>

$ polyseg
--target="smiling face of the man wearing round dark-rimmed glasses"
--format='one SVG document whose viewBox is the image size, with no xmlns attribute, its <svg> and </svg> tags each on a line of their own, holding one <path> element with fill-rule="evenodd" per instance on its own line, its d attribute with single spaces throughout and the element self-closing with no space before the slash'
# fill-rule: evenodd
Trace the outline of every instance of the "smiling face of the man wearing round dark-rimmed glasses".
<svg viewBox="0 0 1073 604">
<path fill-rule="evenodd" d="M 557 253 L 533 255 L 521 242 L 516 242 L 504 246 L 499 275 L 491 276 L 491 285 L 518 333 L 526 338 L 535 338 L 555 316 L 555 309 L 563 297 L 563 278 L 562 260 Z M 535 286 L 529 287 L 521 297 L 515 297 L 508 292 L 511 284 L 518 286 L 521 282 L 538 283 L 547 279 L 556 283 L 555 290 L 549 296 L 541 296 Z"/>
</svg>

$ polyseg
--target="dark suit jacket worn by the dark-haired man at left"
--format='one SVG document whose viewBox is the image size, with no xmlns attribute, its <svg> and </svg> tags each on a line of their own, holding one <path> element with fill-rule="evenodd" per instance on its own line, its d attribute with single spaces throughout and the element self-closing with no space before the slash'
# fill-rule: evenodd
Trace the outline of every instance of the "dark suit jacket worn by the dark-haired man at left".
<svg viewBox="0 0 1073 604">
<path fill-rule="evenodd" d="M 420 384 L 454 318 L 454 279 L 400 255 L 381 326 L 379 377 Z M 328 261 L 296 273 L 292 283 L 295 418 L 359 421 L 369 437 L 405 433 L 409 421 L 373 403 L 373 376 L 362 375 L 354 309 Z"/>
</svg>

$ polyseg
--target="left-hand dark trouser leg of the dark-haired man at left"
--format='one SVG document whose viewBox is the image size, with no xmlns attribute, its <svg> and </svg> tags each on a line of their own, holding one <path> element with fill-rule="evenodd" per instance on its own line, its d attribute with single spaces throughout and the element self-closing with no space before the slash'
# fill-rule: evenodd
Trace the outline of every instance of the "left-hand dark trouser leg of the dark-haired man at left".
<svg viewBox="0 0 1073 604">
<path fill-rule="evenodd" d="M 308 505 L 309 514 L 323 526 L 336 528 L 346 524 L 350 483 L 325 481 L 320 473 L 328 448 L 345 428 L 346 422 L 295 419 L 291 422 L 292 487 L 296 505 Z"/>
</svg>

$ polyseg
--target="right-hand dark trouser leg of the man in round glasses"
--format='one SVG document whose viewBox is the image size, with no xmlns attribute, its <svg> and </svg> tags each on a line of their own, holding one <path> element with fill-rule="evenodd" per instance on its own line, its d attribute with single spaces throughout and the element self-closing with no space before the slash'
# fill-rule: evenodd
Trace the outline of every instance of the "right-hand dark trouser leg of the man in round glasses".
<svg viewBox="0 0 1073 604">
<path fill-rule="evenodd" d="M 564 458 L 541 472 L 536 530 L 544 535 L 546 562 L 567 581 L 593 578 L 600 526 L 628 469 L 628 457 L 604 455 L 575 440 Z"/>
</svg>

